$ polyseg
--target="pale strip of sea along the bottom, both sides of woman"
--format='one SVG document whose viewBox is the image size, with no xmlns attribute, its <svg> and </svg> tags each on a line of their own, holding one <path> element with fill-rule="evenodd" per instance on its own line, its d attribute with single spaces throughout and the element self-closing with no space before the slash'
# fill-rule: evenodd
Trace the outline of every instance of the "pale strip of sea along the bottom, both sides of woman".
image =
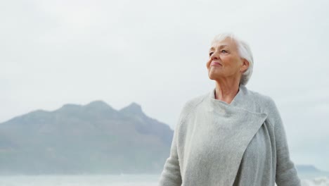
<svg viewBox="0 0 329 186">
<path fill-rule="evenodd" d="M 0 186 L 157 186 L 160 175 L 0 175 Z M 302 186 L 329 186 L 329 177 L 301 178 Z"/>
</svg>

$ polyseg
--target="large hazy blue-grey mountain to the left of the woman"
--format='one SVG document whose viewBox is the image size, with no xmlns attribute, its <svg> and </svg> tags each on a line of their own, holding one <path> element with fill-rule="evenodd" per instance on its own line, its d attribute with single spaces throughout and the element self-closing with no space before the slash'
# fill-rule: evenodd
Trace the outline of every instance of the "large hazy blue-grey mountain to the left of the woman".
<svg viewBox="0 0 329 186">
<path fill-rule="evenodd" d="M 32 111 L 0 123 L 0 174 L 159 173 L 172 135 L 136 103 Z"/>
</svg>

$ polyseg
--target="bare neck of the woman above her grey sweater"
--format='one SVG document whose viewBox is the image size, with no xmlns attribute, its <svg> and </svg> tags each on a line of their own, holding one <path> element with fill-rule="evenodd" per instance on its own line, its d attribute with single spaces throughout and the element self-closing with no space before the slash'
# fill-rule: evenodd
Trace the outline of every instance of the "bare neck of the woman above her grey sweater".
<svg viewBox="0 0 329 186">
<path fill-rule="evenodd" d="M 231 104 L 238 92 L 239 82 L 228 83 L 216 81 L 215 99 Z"/>
</svg>

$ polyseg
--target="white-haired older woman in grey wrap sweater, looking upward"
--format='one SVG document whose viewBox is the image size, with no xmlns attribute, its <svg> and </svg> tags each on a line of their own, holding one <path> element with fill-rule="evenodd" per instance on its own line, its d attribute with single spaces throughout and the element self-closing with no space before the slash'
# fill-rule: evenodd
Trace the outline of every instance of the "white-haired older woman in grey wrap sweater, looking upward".
<svg viewBox="0 0 329 186">
<path fill-rule="evenodd" d="M 252 67 L 245 42 L 214 38 L 207 70 L 216 87 L 183 106 L 161 186 L 300 186 L 276 104 L 245 87 Z"/>
</svg>

